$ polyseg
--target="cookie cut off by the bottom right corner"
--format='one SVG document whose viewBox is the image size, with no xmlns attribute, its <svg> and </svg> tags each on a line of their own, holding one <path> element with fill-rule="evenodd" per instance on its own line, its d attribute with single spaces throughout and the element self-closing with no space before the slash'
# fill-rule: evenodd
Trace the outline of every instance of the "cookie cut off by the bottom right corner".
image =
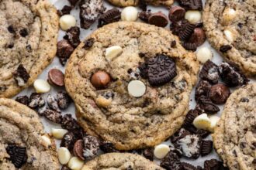
<svg viewBox="0 0 256 170">
<path fill-rule="evenodd" d="M 213 134 L 213 144 L 230 169 L 256 168 L 256 83 L 235 90 Z"/>
</svg>

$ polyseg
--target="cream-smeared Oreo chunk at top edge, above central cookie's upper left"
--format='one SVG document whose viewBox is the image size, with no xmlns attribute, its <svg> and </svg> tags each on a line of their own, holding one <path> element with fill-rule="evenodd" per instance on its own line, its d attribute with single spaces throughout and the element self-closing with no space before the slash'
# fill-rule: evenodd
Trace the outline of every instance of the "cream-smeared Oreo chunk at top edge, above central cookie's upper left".
<svg viewBox="0 0 256 170">
<path fill-rule="evenodd" d="M 105 11 L 102 0 L 81 0 L 80 25 L 83 29 L 88 29 L 98 19 L 99 15 Z"/>
</svg>

